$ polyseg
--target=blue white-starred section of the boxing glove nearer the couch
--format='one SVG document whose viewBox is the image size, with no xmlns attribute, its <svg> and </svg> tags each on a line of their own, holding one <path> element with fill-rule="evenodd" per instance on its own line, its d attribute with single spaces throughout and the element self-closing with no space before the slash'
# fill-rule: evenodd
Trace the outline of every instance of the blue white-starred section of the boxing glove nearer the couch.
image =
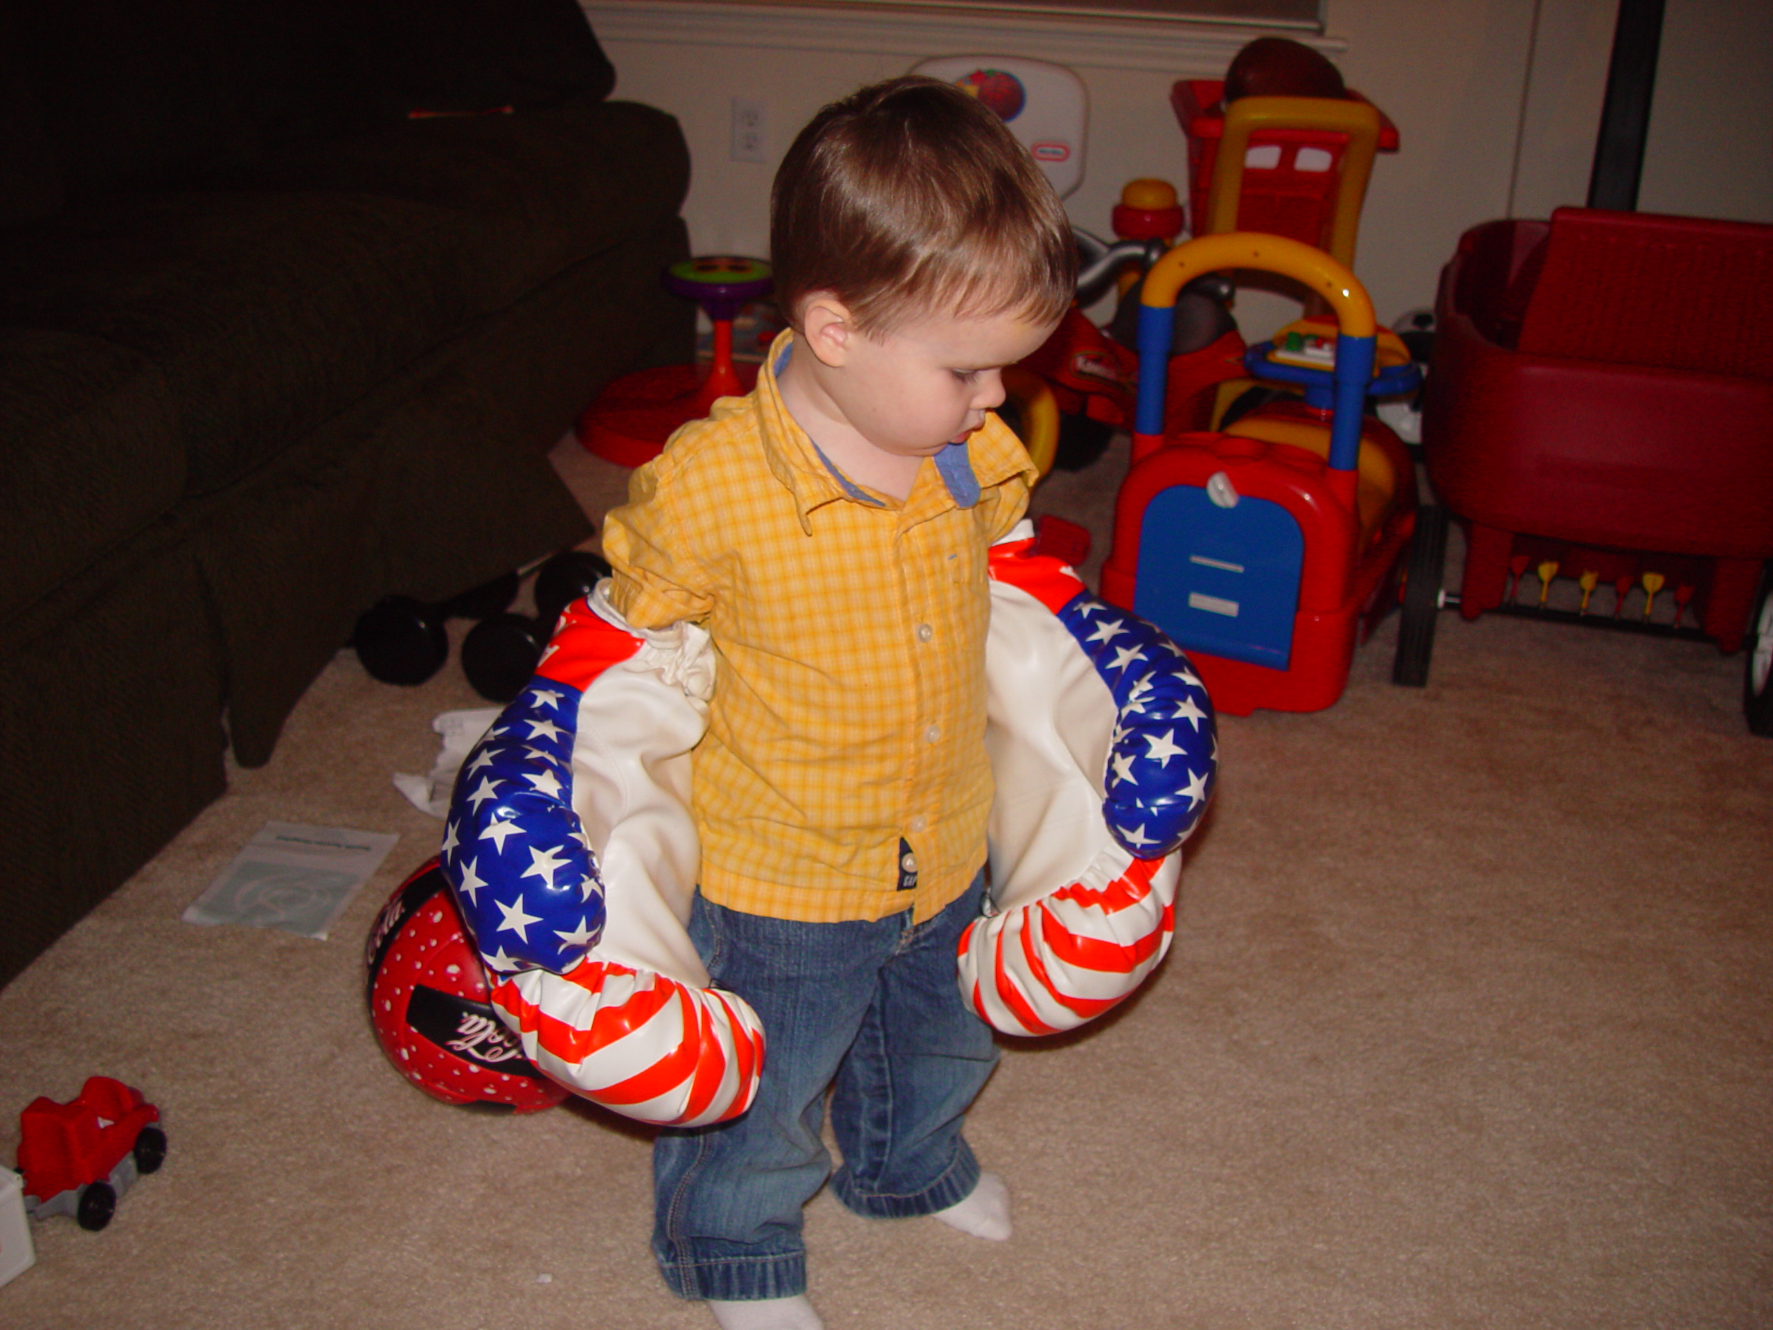
<svg viewBox="0 0 1773 1330">
<path fill-rule="evenodd" d="M 603 878 L 573 812 L 580 697 L 530 679 L 456 777 L 443 878 L 498 974 L 566 974 L 603 936 Z"/>
</svg>

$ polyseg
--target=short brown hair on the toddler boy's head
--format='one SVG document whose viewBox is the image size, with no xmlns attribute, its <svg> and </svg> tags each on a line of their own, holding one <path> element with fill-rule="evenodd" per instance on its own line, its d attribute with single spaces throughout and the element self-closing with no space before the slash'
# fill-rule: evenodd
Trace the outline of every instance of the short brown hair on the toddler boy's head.
<svg viewBox="0 0 1773 1330">
<path fill-rule="evenodd" d="M 1078 250 L 1051 183 L 1009 128 L 952 83 L 910 74 L 821 110 L 769 197 L 775 294 L 832 291 L 860 332 L 936 310 L 1055 321 Z"/>
</svg>

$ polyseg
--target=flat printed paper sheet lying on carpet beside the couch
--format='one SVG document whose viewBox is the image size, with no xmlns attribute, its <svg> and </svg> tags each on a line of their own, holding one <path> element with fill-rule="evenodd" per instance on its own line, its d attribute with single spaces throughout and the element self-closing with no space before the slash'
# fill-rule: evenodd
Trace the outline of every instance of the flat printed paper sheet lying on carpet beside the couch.
<svg viewBox="0 0 1773 1330">
<path fill-rule="evenodd" d="M 257 924 L 324 940 L 339 911 L 399 839 L 346 826 L 266 823 L 191 901 L 183 919 L 186 924 Z"/>
</svg>

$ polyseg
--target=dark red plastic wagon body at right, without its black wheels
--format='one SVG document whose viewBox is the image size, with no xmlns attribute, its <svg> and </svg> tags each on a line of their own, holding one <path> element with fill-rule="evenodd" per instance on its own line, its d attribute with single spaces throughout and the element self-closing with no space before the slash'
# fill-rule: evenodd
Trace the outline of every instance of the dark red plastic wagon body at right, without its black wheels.
<svg viewBox="0 0 1773 1330">
<path fill-rule="evenodd" d="M 1769 310 L 1769 225 L 1560 207 L 1468 231 L 1422 420 L 1429 479 L 1470 528 L 1459 612 L 1514 608 L 1511 575 L 1543 567 L 1543 589 L 1583 578 L 1583 610 L 1527 612 L 1681 631 L 1621 614 L 1635 585 L 1668 585 L 1665 606 L 1697 599 L 1699 631 L 1743 645 L 1773 559 Z M 1601 580 L 1613 603 L 1590 612 Z M 1757 706 L 1773 729 L 1752 653 L 1752 725 Z"/>
</svg>

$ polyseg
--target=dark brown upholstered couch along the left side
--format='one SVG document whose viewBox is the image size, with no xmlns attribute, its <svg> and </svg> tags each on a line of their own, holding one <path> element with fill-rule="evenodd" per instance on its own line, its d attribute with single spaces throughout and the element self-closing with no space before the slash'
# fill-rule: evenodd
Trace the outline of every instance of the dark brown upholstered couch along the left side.
<svg viewBox="0 0 1773 1330">
<path fill-rule="evenodd" d="M 369 605 L 589 534 L 544 454 L 693 314 L 612 85 L 573 0 L 0 11 L 0 982 Z"/>
</svg>

